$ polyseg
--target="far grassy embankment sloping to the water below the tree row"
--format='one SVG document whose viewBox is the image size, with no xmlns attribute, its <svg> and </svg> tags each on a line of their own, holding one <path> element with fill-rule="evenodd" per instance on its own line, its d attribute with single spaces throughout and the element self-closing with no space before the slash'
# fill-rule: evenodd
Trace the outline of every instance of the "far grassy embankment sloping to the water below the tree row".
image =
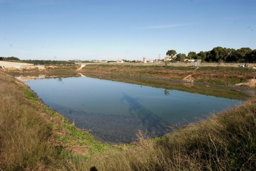
<svg viewBox="0 0 256 171">
<path fill-rule="evenodd" d="M 186 76 L 191 75 L 190 78 L 194 82 L 220 85 L 243 83 L 256 75 L 256 70 L 252 68 L 199 67 L 197 70 L 195 69 L 195 67 L 177 66 L 90 64 L 80 71 L 147 76 L 172 80 L 183 80 Z"/>
</svg>

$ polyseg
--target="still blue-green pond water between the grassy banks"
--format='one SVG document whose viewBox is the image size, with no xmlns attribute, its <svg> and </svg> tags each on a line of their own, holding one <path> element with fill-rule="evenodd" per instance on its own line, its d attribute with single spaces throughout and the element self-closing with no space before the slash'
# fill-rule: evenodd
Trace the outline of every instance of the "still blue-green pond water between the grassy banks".
<svg viewBox="0 0 256 171">
<path fill-rule="evenodd" d="M 138 130 L 159 137 L 242 103 L 228 99 L 89 77 L 24 82 L 42 101 L 101 141 L 130 143 Z"/>
</svg>

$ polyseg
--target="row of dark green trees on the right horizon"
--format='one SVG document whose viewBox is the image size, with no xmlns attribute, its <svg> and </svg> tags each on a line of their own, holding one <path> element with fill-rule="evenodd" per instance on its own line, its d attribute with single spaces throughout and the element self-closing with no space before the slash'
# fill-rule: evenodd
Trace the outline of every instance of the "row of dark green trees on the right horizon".
<svg viewBox="0 0 256 171">
<path fill-rule="evenodd" d="M 166 52 L 167 56 L 175 57 L 176 60 L 184 61 L 185 58 L 202 60 L 202 62 L 256 62 L 256 49 L 252 50 L 250 48 L 222 48 L 220 46 L 213 48 L 210 51 L 200 51 L 189 52 L 188 56 L 186 54 L 177 54 L 175 50 L 168 50 Z"/>
</svg>

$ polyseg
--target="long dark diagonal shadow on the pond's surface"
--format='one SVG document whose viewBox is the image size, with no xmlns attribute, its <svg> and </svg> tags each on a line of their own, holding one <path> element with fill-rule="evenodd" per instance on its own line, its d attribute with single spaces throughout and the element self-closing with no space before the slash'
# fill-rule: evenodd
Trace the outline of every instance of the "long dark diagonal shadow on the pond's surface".
<svg viewBox="0 0 256 171">
<path fill-rule="evenodd" d="M 152 132 L 155 129 L 159 129 L 167 124 L 166 121 L 152 113 L 146 107 L 140 104 L 141 101 L 139 98 L 133 98 L 125 93 L 122 93 L 123 97 L 120 99 L 121 102 L 127 101 L 129 103 L 129 113 L 132 117 L 140 117 L 144 125 L 148 125 L 148 131 Z M 164 124 L 164 125 L 163 125 Z"/>
</svg>

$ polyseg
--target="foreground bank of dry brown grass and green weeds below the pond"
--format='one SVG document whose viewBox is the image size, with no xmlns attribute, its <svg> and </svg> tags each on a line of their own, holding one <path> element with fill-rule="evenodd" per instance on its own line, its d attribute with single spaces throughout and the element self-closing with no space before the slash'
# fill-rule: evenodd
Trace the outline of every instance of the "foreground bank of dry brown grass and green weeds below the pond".
<svg viewBox="0 0 256 171">
<path fill-rule="evenodd" d="M 111 146 L 0 73 L 2 170 L 255 170 L 256 100 L 164 137 Z"/>
</svg>

